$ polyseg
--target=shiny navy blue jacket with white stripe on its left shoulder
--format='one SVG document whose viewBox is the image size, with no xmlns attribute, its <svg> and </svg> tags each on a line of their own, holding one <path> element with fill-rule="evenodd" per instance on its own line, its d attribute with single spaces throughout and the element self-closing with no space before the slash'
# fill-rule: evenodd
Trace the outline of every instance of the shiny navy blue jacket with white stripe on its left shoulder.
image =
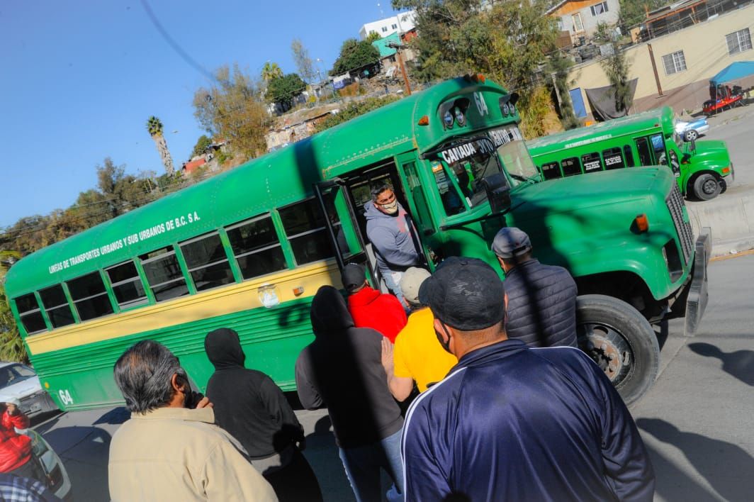
<svg viewBox="0 0 754 502">
<path fill-rule="evenodd" d="M 505 340 L 467 353 L 403 427 L 406 500 L 652 500 L 621 396 L 578 349 Z"/>
</svg>

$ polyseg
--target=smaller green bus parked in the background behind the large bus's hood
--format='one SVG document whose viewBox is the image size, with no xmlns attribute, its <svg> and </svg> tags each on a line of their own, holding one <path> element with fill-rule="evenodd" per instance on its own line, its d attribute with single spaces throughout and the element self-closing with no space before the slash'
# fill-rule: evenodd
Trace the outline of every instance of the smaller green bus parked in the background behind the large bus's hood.
<svg viewBox="0 0 754 502">
<path fill-rule="evenodd" d="M 714 199 L 734 176 L 724 141 L 683 140 L 670 106 L 527 142 L 544 180 L 639 165 L 665 165 L 681 192 Z"/>
</svg>

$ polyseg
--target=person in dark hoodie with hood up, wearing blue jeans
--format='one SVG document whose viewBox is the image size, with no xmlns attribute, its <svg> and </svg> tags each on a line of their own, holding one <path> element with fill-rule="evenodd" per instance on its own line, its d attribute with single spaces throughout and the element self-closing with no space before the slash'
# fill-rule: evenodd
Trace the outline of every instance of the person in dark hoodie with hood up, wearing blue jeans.
<svg viewBox="0 0 754 502">
<path fill-rule="evenodd" d="M 354 328 L 345 299 L 333 286 L 322 286 L 314 295 L 311 327 L 314 341 L 296 360 L 302 405 L 308 409 L 326 405 L 358 502 L 382 499 L 381 467 L 403 493 L 403 418 L 382 367 L 382 334 Z"/>
</svg>

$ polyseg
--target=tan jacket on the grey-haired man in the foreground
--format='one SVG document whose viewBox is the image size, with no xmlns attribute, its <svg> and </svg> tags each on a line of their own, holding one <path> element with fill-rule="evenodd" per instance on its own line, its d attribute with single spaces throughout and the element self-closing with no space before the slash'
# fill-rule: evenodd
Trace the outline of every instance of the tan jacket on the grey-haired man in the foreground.
<svg viewBox="0 0 754 502">
<path fill-rule="evenodd" d="M 277 502 L 269 483 L 214 421 L 212 408 L 131 414 L 110 444 L 112 500 Z"/>
</svg>

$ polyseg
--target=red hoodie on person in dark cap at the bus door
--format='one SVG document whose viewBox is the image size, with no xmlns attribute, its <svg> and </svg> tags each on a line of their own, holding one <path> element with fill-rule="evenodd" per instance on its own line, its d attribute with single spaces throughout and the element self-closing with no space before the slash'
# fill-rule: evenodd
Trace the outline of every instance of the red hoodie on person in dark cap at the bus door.
<svg viewBox="0 0 754 502">
<path fill-rule="evenodd" d="M 406 311 L 400 301 L 369 286 L 348 297 L 348 312 L 357 328 L 375 329 L 392 343 L 406 325 Z"/>
</svg>

